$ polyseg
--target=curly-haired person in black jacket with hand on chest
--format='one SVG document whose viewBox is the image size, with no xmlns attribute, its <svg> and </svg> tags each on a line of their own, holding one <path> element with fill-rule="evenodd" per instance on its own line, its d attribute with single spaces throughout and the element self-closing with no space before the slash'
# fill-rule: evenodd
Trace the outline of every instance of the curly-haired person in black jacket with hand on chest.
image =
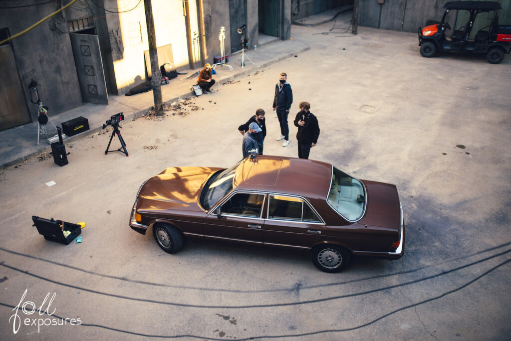
<svg viewBox="0 0 511 341">
<path fill-rule="evenodd" d="M 318 119 L 309 109 L 309 102 L 300 102 L 300 111 L 296 114 L 294 125 L 298 127 L 296 139 L 298 140 L 298 157 L 308 159 L 311 148 L 316 145 L 319 137 Z"/>
</svg>

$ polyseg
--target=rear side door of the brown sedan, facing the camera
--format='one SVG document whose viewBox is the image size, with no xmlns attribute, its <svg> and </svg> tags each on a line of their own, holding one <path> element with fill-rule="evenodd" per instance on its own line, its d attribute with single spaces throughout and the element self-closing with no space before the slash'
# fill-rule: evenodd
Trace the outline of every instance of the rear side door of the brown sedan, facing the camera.
<svg viewBox="0 0 511 341">
<path fill-rule="evenodd" d="M 302 198 L 268 195 L 263 243 L 269 249 L 309 249 L 324 234 L 317 212 Z"/>
</svg>

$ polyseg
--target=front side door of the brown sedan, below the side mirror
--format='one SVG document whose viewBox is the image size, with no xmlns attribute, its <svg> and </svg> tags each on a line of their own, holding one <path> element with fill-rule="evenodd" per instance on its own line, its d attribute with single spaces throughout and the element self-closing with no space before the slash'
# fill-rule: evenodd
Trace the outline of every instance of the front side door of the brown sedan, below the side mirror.
<svg viewBox="0 0 511 341">
<path fill-rule="evenodd" d="M 202 225 L 204 237 L 229 243 L 262 246 L 264 201 L 264 193 L 235 191 L 206 216 Z"/>
</svg>

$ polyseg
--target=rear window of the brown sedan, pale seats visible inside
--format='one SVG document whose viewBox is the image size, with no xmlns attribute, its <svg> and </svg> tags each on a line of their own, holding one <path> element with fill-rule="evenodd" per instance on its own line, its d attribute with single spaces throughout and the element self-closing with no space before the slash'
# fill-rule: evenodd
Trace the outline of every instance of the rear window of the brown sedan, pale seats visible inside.
<svg viewBox="0 0 511 341">
<path fill-rule="evenodd" d="M 328 203 L 347 220 L 357 221 L 364 213 L 364 186 L 359 180 L 333 167 Z"/>
</svg>

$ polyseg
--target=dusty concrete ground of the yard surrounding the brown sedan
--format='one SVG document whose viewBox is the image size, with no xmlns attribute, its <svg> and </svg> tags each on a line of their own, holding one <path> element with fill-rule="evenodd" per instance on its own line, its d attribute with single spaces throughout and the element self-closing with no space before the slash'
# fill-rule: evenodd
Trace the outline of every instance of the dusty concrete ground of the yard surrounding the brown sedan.
<svg viewBox="0 0 511 341">
<path fill-rule="evenodd" d="M 121 124 L 129 157 L 104 155 L 109 128 L 68 141 L 63 167 L 42 153 L 3 169 L 0 338 L 509 339 L 511 57 L 499 65 L 427 59 L 414 33 L 337 29 L 350 18 L 342 14 L 332 31 L 333 22 L 292 26 L 288 43 L 303 52 L 163 118 L 133 114 Z M 263 47 L 278 54 L 279 46 Z M 271 110 L 282 71 L 294 94 L 286 148 L 275 141 Z M 311 103 L 321 128 L 311 159 L 397 185 L 401 259 L 353 257 L 342 273 L 326 274 L 300 254 L 188 243 L 169 255 L 129 228 L 150 176 L 238 161 L 237 127 L 259 107 L 265 154 L 296 156 L 300 101 Z M 106 107 L 101 120 L 115 112 Z M 82 242 L 44 240 L 32 215 L 86 222 Z"/>
</svg>

